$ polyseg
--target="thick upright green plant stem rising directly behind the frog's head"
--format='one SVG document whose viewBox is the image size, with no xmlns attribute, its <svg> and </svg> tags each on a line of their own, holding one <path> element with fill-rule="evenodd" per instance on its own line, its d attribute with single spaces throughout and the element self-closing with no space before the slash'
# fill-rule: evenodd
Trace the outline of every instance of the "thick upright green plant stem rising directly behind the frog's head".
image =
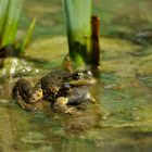
<svg viewBox="0 0 152 152">
<path fill-rule="evenodd" d="M 99 47 L 98 43 L 93 45 L 94 34 L 98 31 L 93 18 L 97 17 L 92 17 L 92 24 L 90 24 L 92 0 L 63 0 L 63 4 L 72 66 L 76 69 L 98 66 L 99 48 L 97 53 L 93 51 L 94 47 Z"/>
</svg>

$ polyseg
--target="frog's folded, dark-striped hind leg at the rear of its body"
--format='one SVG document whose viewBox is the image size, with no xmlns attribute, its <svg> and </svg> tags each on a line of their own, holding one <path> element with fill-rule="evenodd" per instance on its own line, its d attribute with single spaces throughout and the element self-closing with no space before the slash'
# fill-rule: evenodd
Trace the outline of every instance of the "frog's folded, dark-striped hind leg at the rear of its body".
<svg viewBox="0 0 152 152">
<path fill-rule="evenodd" d="M 36 110 L 36 103 L 42 99 L 42 90 L 40 88 L 33 88 L 31 85 L 25 80 L 20 79 L 13 87 L 13 98 L 25 110 Z"/>
</svg>

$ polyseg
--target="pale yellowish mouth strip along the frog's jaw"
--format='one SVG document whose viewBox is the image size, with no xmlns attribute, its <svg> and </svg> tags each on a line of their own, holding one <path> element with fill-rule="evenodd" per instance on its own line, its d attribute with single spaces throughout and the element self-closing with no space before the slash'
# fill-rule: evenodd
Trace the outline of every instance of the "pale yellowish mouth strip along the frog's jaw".
<svg viewBox="0 0 152 152">
<path fill-rule="evenodd" d="M 68 84 L 72 87 L 76 87 L 76 86 L 91 86 L 91 85 L 94 85 L 96 83 L 97 83 L 96 78 L 91 78 L 91 79 L 72 80 L 69 83 L 66 83 L 66 85 Z"/>
</svg>

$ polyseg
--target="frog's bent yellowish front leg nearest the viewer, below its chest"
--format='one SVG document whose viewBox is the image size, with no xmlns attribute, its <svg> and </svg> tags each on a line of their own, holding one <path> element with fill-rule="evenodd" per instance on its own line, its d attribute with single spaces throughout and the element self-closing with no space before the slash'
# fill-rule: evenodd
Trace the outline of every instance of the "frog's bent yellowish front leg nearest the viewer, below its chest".
<svg viewBox="0 0 152 152">
<path fill-rule="evenodd" d="M 74 112 L 74 107 L 67 106 L 66 105 L 67 103 L 68 99 L 66 97 L 59 97 L 56 101 L 53 103 L 53 110 L 55 112 L 72 114 Z"/>
</svg>

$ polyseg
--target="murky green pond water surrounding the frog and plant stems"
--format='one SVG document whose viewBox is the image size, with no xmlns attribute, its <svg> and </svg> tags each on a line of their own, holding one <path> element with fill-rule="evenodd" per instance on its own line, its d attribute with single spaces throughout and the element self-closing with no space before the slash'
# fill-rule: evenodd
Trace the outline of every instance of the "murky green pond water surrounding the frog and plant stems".
<svg viewBox="0 0 152 152">
<path fill-rule="evenodd" d="M 101 18 L 101 71 L 91 89 L 97 104 L 76 115 L 61 115 L 48 106 L 26 112 L 11 99 L 17 76 L 35 84 L 60 66 L 67 53 L 62 2 L 25 1 L 21 34 L 33 17 L 37 26 L 25 60 L 8 59 L 0 71 L 0 152 L 151 152 L 151 0 L 93 1 Z M 17 64 L 28 68 L 18 69 Z"/>
</svg>

